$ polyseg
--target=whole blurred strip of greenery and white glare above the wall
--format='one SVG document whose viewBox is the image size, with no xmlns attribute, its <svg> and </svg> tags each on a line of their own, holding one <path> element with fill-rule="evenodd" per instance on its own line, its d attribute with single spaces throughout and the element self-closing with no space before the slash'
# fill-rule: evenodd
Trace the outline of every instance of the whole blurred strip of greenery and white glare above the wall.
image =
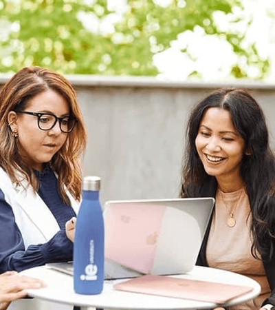
<svg viewBox="0 0 275 310">
<path fill-rule="evenodd" d="M 0 1 L 0 72 L 274 81 L 274 0 Z"/>
</svg>

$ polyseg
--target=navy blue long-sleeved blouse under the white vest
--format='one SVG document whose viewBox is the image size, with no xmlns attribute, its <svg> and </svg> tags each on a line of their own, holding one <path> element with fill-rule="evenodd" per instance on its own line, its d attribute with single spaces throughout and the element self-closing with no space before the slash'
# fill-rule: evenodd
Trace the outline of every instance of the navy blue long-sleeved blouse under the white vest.
<svg viewBox="0 0 275 310">
<path fill-rule="evenodd" d="M 60 231 L 48 242 L 30 245 L 25 249 L 12 207 L 5 201 L 0 188 L 0 273 L 8 270 L 22 271 L 45 265 L 47 262 L 72 260 L 73 242 L 66 236 L 65 223 L 76 216 L 74 209 L 61 200 L 57 178 L 51 169 L 35 173 L 39 177 L 39 196 L 54 215 Z"/>
</svg>

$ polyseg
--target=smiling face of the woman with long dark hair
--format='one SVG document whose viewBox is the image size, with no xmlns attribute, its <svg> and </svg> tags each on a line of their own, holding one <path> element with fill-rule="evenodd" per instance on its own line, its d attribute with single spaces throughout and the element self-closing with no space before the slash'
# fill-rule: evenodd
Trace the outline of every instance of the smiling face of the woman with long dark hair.
<svg viewBox="0 0 275 310">
<path fill-rule="evenodd" d="M 245 141 L 236 132 L 230 112 L 219 107 L 206 110 L 195 145 L 207 174 L 218 183 L 239 183 Z"/>
</svg>

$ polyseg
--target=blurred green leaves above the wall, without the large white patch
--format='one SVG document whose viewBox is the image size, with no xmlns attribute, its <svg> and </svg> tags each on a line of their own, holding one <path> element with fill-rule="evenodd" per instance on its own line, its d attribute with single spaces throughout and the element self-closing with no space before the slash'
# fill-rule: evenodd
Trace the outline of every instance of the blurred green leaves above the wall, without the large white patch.
<svg viewBox="0 0 275 310">
<path fill-rule="evenodd" d="M 214 12 L 232 16 L 240 0 L 129 0 L 113 10 L 107 0 L 0 0 L 0 72 L 41 65 L 65 74 L 155 76 L 153 56 L 170 47 L 179 34 L 199 27 L 206 35 L 227 41 L 238 59 L 259 69 L 263 79 L 269 59 L 261 59 L 245 34 L 221 31 Z M 249 23 L 249 21 L 246 21 Z M 192 54 L 183 48 L 182 53 Z M 195 59 L 194 59 L 195 60 Z M 225 59 L 226 61 L 226 59 Z M 242 62 L 243 62 L 242 61 Z M 250 77 L 236 61 L 230 74 Z M 197 70 L 189 76 L 200 78 Z"/>
</svg>

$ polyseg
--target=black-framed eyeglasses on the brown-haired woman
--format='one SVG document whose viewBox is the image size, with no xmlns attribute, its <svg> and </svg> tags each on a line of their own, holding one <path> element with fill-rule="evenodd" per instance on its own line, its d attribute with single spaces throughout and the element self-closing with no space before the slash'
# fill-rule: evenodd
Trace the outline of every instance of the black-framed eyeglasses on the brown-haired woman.
<svg viewBox="0 0 275 310">
<path fill-rule="evenodd" d="M 17 113 L 29 114 L 37 117 L 37 125 L 40 130 L 51 130 L 56 125 L 56 122 L 59 121 L 59 127 L 61 132 L 66 134 L 72 132 L 74 126 L 76 125 L 77 119 L 71 116 L 57 117 L 54 114 L 49 113 L 36 113 L 29 111 L 15 111 Z"/>
</svg>

